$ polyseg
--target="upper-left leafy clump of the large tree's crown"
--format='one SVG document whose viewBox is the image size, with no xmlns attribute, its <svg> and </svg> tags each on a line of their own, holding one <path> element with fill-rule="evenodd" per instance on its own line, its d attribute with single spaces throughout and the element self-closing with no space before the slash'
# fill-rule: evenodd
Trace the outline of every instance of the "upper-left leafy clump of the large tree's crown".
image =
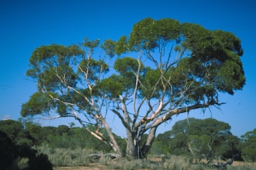
<svg viewBox="0 0 256 170">
<path fill-rule="evenodd" d="M 61 80 L 55 75 L 66 76 L 69 86 L 75 86 L 75 73 L 69 66 L 72 62 L 77 62 L 73 56 L 83 55 L 83 50 L 79 46 L 62 46 L 52 44 L 41 46 L 33 51 L 29 59 L 32 69 L 27 70 L 27 76 L 38 80 L 37 86 L 45 90 L 58 90 Z"/>
</svg>

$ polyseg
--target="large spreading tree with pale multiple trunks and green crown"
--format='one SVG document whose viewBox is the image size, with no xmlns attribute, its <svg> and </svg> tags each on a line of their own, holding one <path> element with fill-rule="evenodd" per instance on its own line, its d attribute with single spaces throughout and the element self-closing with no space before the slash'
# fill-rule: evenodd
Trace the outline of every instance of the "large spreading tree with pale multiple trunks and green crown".
<svg viewBox="0 0 256 170">
<path fill-rule="evenodd" d="M 121 155 L 107 122 L 115 115 L 126 129 L 126 155 L 145 157 L 157 128 L 173 115 L 219 107 L 219 92 L 243 88 L 242 55 L 233 33 L 174 19 L 143 19 L 118 41 L 40 46 L 27 70 L 38 92 L 21 115 L 75 118 Z"/>
</svg>

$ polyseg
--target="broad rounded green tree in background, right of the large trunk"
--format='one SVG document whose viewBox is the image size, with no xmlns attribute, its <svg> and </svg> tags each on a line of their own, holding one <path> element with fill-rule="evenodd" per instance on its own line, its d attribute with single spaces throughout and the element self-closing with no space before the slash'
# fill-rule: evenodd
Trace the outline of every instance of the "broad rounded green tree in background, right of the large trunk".
<svg viewBox="0 0 256 170">
<path fill-rule="evenodd" d="M 169 153 L 174 155 L 195 155 L 200 159 L 205 158 L 202 154 L 232 158 L 239 153 L 239 139 L 230 129 L 229 124 L 213 118 L 189 118 L 176 122 L 171 131 L 159 134 L 157 140 L 168 145 Z"/>
</svg>

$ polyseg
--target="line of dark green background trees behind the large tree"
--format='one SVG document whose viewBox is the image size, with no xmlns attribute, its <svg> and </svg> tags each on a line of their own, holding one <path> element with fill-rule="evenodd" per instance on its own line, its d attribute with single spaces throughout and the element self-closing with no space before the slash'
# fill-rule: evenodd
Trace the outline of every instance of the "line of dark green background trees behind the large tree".
<svg viewBox="0 0 256 170">
<path fill-rule="evenodd" d="M 97 130 L 97 126 L 87 128 L 91 131 Z M 256 161 L 256 129 L 248 131 L 241 138 L 233 135 L 230 129 L 229 124 L 213 118 L 180 120 L 171 130 L 157 135 L 148 154 L 186 155 L 199 160 L 207 159 L 209 162 L 213 159 L 232 159 L 236 155 L 236 160 Z M 69 126 L 42 127 L 33 122 L 3 120 L 0 121 L 0 132 L 1 161 L 3 162 L 6 159 L 9 159 L 8 161 L 17 159 L 17 157 L 31 157 L 31 159 L 37 157 L 37 151 L 32 148 L 43 144 L 51 148 L 87 148 L 105 153 L 112 150 L 109 145 L 93 137 L 85 128 L 77 127 L 73 123 Z M 101 129 L 101 133 L 107 132 Z M 115 138 L 125 154 L 127 138 L 117 135 Z M 147 135 L 142 142 L 147 142 Z M 43 160 L 47 163 L 47 155 L 41 154 L 40 157 L 37 161 Z M 35 161 L 35 158 L 33 159 Z M 37 161 L 35 163 L 38 165 Z"/>
</svg>

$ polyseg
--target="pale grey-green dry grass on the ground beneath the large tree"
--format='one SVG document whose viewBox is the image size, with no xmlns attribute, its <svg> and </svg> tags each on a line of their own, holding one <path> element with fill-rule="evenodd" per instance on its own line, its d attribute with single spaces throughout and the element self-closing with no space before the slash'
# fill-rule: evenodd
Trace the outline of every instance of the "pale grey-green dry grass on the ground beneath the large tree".
<svg viewBox="0 0 256 170">
<path fill-rule="evenodd" d="M 38 147 L 39 153 L 45 153 L 49 161 L 53 164 L 53 170 L 69 169 L 211 169 L 206 167 L 206 161 L 196 161 L 191 157 L 182 157 L 175 155 L 149 155 L 147 159 L 119 159 L 113 160 L 109 157 L 93 159 L 89 157 L 90 153 L 95 153 L 92 149 L 51 149 L 48 145 Z M 227 165 L 227 170 L 249 170 L 256 169 L 254 163 L 245 163 L 234 161 L 232 165 Z"/>
</svg>

